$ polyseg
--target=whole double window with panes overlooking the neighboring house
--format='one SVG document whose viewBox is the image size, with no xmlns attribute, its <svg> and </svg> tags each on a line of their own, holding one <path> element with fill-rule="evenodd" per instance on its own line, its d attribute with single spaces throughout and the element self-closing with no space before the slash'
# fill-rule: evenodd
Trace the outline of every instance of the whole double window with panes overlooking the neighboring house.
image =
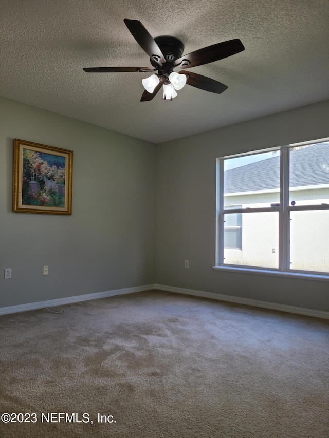
<svg viewBox="0 0 329 438">
<path fill-rule="evenodd" d="M 328 276 L 329 141 L 218 158 L 216 214 L 214 269 Z"/>
</svg>

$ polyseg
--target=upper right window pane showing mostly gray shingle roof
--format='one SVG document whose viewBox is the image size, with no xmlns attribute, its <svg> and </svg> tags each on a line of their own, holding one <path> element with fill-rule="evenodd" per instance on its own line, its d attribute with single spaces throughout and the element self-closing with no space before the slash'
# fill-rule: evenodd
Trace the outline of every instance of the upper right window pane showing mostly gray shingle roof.
<svg viewBox="0 0 329 438">
<path fill-rule="evenodd" d="M 289 203 L 329 203 L 329 142 L 289 148 Z"/>
</svg>

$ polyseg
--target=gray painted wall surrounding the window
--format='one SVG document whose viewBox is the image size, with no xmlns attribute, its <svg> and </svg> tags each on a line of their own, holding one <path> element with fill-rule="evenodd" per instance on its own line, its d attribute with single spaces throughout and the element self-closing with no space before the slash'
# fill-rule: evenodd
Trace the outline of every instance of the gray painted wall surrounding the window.
<svg viewBox="0 0 329 438">
<path fill-rule="evenodd" d="M 216 158 L 327 138 L 328 114 L 324 101 L 158 145 L 156 282 L 329 311 L 328 282 L 212 269 Z"/>
</svg>

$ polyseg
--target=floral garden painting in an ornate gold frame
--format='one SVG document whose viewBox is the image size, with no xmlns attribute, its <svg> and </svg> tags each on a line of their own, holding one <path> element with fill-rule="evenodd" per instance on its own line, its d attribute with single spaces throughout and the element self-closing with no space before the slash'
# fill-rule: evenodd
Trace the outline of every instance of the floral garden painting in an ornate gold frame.
<svg viewBox="0 0 329 438">
<path fill-rule="evenodd" d="M 14 140 L 13 211 L 72 214 L 73 152 Z"/>
</svg>

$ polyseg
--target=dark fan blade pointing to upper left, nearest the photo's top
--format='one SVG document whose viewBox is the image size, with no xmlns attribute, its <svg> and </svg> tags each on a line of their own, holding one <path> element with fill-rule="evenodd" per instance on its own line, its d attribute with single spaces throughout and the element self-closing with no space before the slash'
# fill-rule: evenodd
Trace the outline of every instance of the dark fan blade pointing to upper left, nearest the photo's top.
<svg viewBox="0 0 329 438">
<path fill-rule="evenodd" d="M 127 20 L 126 18 L 123 21 L 137 43 L 150 56 L 150 58 L 159 65 L 164 64 L 166 62 L 165 56 L 163 56 L 159 46 L 141 22 L 138 20 Z"/>
</svg>

